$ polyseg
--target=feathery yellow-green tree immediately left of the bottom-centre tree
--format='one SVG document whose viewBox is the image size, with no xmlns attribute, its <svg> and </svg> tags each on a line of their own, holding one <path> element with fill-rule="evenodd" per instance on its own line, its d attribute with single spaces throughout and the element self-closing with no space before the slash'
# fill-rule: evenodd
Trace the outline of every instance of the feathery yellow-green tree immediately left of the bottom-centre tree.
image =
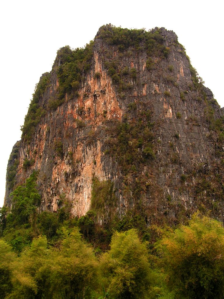
<svg viewBox="0 0 224 299">
<path fill-rule="evenodd" d="M 51 280 L 52 298 L 91 298 L 97 285 L 97 261 L 77 228 L 62 241 L 61 250 L 54 257 Z"/>
</svg>

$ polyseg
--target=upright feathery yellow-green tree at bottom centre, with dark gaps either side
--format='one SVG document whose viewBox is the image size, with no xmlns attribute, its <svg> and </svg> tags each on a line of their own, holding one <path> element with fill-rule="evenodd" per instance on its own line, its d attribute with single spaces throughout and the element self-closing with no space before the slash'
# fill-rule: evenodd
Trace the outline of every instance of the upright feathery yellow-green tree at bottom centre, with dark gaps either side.
<svg viewBox="0 0 224 299">
<path fill-rule="evenodd" d="M 155 276 L 135 229 L 113 235 L 111 250 L 102 256 L 101 270 L 108 298 L 154 298 Z"/>
</svg>

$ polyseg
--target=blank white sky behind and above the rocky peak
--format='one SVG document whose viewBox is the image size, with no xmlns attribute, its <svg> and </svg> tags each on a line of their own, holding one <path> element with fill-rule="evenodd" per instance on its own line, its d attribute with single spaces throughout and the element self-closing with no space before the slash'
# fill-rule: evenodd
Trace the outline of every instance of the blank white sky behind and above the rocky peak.
<svg viewBox="0 0 224 299">
<path fill-rule="evenodd" d="M 209 3 L 209 4 L 206 4 Z M 7 161 L 39 77 L 50 71 L 59 48 L 82 47 L 100 26 L 165 27 L 185 46 L 192 65 L 224 106 L 221 1 L 1 1 L 0 207 Z"/>
</svg>

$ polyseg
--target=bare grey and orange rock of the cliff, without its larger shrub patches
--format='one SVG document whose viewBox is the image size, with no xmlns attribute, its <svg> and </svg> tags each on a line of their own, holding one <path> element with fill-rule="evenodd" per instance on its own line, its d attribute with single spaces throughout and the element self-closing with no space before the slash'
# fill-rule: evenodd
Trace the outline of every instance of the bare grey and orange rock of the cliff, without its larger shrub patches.
<svg viewBox="0 0 224 299">
<path fill-rule="evenodd" d="M 30 144 L 22 140 L 19 145 L 15 186 L 37 170 L 41 210 L 56 211 L 60 198 L 66 196 L 72 202 L 73 215 L 81 216 L 90 209 L 95 175 L 100 181 L 114 183 L 115 210 L 120 214 L 136 205 L 133 186 L 139 182 L 138 200 L 141 198 L 148 218 L 177 218 L 207 206 L 222 218 L 223 170 L 217 165 L 222 163 L 223 147 L 207 115 L 212 109 L 215 121 L 222 112 L 209 89 L 203 87 L 202 96 L 192 87 L 191 65 L 176 34 L 160 29 L 168 56 L 155 54 L 150 69 L 143 47 L 120 51 L 118 46 L 105 42 L 102 30 L 111 29 L 102 27 L 96 35 L 90 70 L 79 96 L 66 94 L 62 105 L 42 117 Z M 129 74 L 122 77 L 126 89 L 121 90 L 113 82 L 108 71 L 111 62 L 117 63 L 119 74 L 128 68 Z M 39 100 L 44 108 L 57 94 L 59 64 L 57 57 L 50 86 Z M 131 76 L 132 69 L 136 76 Z M 127 175 L 115 153 L 110 153 L 111 138 L 116 138 L 118 123 L 147 123 L 141 115 L 149 111 L 155 159 L 144 160 L 144 165 L 139 164 Z M 144 155 L 144 145 L 138 152 Z M 33 161 L 26 171 L 25 158 Z M 213 190 L 209 196 L 202 186 L 207 180 Z M 7 183 L 5 205 L 10 205 L 11 190 Z M 218 202 L 215 208 L 214 202 Z"/>
</svg>

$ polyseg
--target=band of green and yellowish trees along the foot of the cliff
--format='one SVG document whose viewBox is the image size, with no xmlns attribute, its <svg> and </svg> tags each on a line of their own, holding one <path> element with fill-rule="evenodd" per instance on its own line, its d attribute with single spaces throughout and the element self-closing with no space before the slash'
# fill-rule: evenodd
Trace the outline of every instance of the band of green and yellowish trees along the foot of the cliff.
<svg viewBox="0 0 224 299">
<path fill-rule="evenodd" d="M 131 211 L 97 223 L 94 209 L 71 218 L 65 196 L 39 213 L 36 179 L 0 210 L 0 298 L 223 298 L 222 223 L 198 212 L 147 226 Z"/>
</svg>

